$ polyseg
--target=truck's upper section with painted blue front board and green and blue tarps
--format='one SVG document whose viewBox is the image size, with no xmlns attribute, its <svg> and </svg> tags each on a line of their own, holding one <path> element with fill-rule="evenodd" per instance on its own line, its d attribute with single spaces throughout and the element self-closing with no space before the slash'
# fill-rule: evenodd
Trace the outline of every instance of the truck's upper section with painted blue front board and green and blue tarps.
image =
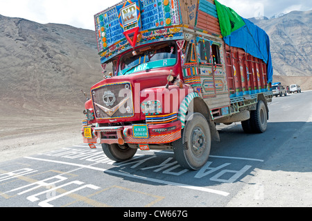
<svg viewBox="0 0 312 221">
<path fill-rule="evenodd" d="M 268 35 L 216 0 L 125 0 L 94 19 L 101 64 L 136 46 L 184 39 L 183 28 L 191 28 L 263 60 L 272 82 Z"/>
</svg>

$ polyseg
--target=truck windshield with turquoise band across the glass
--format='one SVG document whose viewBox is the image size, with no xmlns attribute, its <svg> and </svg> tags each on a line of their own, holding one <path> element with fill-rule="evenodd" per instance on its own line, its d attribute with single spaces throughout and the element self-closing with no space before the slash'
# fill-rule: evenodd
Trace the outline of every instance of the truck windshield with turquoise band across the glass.
<svg viewBox="0 0 312 221">
<path fill-rule="evenodd" d="M 147 69 L 173 66 L 177 61 L 175 42 L 162 42 L 136 49 L 121 56 L 118 75 L 128 75 Z"/>
</svg>

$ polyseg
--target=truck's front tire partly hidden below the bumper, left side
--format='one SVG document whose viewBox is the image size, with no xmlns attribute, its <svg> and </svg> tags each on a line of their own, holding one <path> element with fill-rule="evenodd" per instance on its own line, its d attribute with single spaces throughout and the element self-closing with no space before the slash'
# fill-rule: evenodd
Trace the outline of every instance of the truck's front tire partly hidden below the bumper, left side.
<svg viewBox="0 0 312 221">
<path fill-rule="evenodd" d="M 102 149 L 105 155 L 113 161 L 126 161 L 135 156 L 137 152 L 137 148 L 130 148 L 126 143 L 124 145 L 102 143 Z"/>
</svg>

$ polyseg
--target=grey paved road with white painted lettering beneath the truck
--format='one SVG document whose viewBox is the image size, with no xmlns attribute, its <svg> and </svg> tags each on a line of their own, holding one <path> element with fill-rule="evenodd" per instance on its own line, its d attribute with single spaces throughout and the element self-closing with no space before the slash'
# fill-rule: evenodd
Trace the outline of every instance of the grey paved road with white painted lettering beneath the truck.
<svg viewBox="0 0 312 221">
<path fill-rule="evenodd" d="M 311 98 L 273 98 L 264 134 L 218 126 L 221 141 L 198 171 L 171 151 L 115 163 L 83 143 L 1 162 L 0 206 L 312 206 Z"/>
</svg>

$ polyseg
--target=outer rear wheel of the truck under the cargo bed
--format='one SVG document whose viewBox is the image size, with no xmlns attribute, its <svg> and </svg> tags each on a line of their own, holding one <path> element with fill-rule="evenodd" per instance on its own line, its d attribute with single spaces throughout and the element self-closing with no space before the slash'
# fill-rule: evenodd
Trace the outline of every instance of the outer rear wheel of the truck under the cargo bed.
<svg viewBox="0 0 312 221">
<path fill-rule="evenodd" d="M 250 111 L 250 126 L 255 133 L 263 133 L 268 125 L 268 112 L 262 100 L 257 103 L 257 109 Z"/>
</svg>

